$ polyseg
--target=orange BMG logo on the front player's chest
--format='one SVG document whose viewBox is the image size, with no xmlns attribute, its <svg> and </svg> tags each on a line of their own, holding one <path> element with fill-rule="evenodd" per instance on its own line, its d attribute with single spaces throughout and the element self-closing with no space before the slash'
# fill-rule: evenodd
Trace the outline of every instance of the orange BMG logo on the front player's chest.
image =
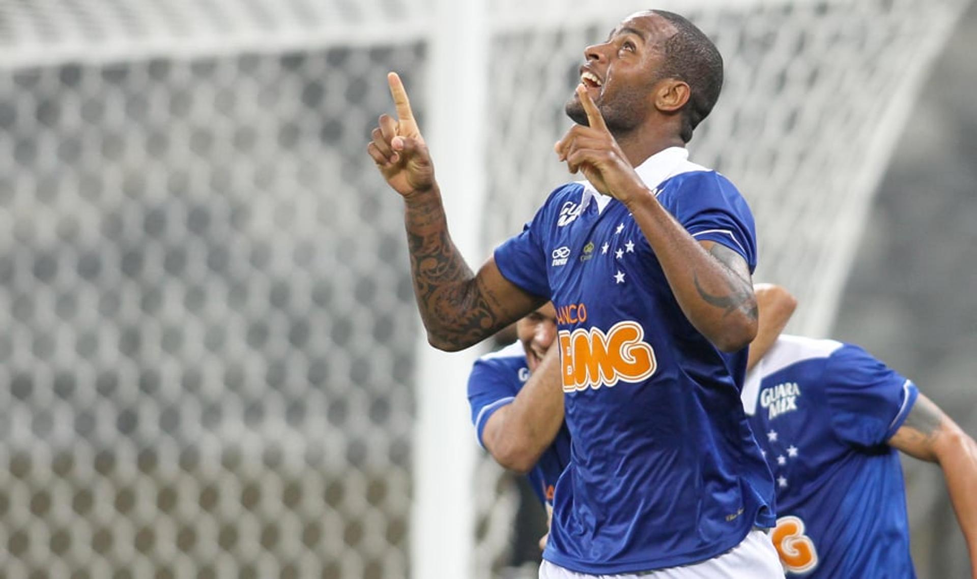
<svg viewBox="0 0 977 579">
<path fill-rule="evenodd" d="M 619 321 L 606 334 L 600 328 L 561 330 L 564 392 L 650 378 L 658 362 L 644 338 L 645 329 L 634 321 Z"/>
</svg>

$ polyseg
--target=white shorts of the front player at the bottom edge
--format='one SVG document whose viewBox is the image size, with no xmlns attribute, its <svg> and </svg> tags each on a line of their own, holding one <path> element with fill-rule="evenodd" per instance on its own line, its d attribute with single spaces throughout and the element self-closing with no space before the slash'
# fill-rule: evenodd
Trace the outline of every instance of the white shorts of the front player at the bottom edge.
<svg viewBox="0 0 977 579">
<path fill-rule="evenodd" d="M 784 568 L 765 531 L 753 529 L 743 542 L 720 555 L 691 565 L 643 573 L 588 575 L 544 560 L 539 579 L 784 579 Z"/>
</svg>

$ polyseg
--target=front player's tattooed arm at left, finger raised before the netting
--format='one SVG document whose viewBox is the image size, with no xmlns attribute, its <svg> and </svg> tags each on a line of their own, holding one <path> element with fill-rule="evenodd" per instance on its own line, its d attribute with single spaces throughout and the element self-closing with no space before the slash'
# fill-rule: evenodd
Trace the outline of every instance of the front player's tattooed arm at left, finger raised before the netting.
<svg viewBox="0 0 977 579">
<path fill-rule="evenodd" d="M 400 77 L 387 77 L 397 120 L 384 114 L 366 150 L 387 184 L 404 197 L 404 226 L 414 295 L 428 341 L 440 350 L 477 344 L 544 300 L 499 272 L 493 259 L 473 274 L 447 232 L 434 164 Z"/>
</svg>

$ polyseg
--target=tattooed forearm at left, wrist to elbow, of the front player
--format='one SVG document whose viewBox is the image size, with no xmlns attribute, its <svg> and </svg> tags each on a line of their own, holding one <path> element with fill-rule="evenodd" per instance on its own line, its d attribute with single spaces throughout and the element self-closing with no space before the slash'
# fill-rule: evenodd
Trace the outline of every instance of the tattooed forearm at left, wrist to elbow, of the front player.
<svg viewBox="0 0 977 579">
<path fill-rule="evenodd" d="M 408 203 L 404 221 L 414 295 L 432 343 L 460 350 L 505 325 L 491 292 L 451 241 L 440 198 Z"/>
</svg>

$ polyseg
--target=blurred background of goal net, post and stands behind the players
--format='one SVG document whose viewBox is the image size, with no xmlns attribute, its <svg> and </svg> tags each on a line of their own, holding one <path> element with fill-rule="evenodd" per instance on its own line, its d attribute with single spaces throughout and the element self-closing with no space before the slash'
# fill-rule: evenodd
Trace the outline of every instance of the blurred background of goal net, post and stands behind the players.
<svg viewBox="0 0 977 579">
<path fill-rule="evenodd" d="M 401 71 L 476 265 L 566 179 L 583 46 L 647 7 L 0 0 L 0 577 L 534 576 L 478 352 L 424 343 L 364 146 Z M 977 9 L 657 7 L 726 58 L 693 155 L 753 206 L 791 330 L 977 433 Z M 920 577 L 965 576 L 938 469 L 907 476 Z"/>
</svg>

